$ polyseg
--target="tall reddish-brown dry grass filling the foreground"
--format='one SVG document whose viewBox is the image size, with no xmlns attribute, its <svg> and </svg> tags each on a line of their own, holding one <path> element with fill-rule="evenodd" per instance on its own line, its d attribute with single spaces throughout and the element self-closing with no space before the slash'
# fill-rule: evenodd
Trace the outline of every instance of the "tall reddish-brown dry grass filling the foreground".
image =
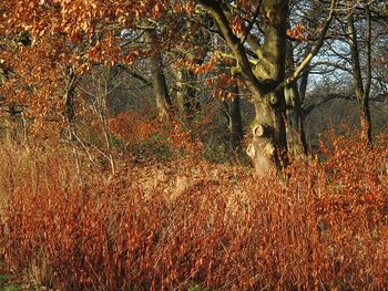
<svg viewBox="0 0 388 291">
<path fill-rule="evenodd" d="M 14 146 L 0 152 L 0 256 L 11 272 L 38 284 L 62 290 L 388 285 L 386 138 L 374 148 L 333 139 L 321 162 L 295 162 L 282 178 L 186 162 L 152 187 L 131 169 L 113 179 L 85 175 L 80 187 L 65 154 Z M 152 180 L 154 170 L 149 166 L 143 174 Z"/>
</svg>

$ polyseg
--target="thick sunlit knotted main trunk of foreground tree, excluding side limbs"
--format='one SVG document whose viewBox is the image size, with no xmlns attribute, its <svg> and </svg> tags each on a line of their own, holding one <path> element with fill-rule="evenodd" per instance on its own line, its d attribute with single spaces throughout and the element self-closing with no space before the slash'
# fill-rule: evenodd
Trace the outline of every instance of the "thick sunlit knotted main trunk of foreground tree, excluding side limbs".
<svg viewBox="0 0 388 291">
<path fill-rule="evenodd" d="M 284 91 L 276 91 L 285 79 L 287 3 L 264 0 L 262 7 L 265 17 L 262 55 L 267 66 L 256 66 L 254 71 L 264 86 L 254 95 L 256 117 L 252 124 L 253 142 L 247 148 L 259 176 L 284 166 L 287 154 Z"/>
</svg>

